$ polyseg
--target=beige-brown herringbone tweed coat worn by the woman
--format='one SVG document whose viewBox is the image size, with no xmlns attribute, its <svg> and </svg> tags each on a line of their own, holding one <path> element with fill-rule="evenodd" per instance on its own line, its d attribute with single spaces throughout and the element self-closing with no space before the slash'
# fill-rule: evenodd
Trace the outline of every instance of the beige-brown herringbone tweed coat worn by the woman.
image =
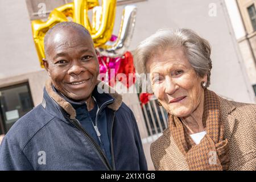
<svg viewBox="0 0 256 182">
<path fill-rule="evenodd" d="M 218 98 L 229 140 L 229 170 L 256 170 L 256 105 Z M 151 144 L 150 152 L 156 170 L 189 170 L 168 128 Z"/>
</svg>

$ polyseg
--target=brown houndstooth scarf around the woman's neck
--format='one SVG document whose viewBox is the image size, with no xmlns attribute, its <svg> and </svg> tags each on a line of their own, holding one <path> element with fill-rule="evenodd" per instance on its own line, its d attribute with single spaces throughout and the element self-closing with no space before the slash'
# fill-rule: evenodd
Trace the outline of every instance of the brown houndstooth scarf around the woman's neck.
<svg viewBox="0 0 256 182">
<path fill-rule="evenodd" d="M 207 134 L 199 144 L 184 132 L 180 119 L 169 114 L 169 129 L 189 169 L 228 170 L 229 142 L 224 138 L 224 126 L 220 118 L 220 104 L 214 92 L 205 89 L 203 125 Z"/>
</svg>

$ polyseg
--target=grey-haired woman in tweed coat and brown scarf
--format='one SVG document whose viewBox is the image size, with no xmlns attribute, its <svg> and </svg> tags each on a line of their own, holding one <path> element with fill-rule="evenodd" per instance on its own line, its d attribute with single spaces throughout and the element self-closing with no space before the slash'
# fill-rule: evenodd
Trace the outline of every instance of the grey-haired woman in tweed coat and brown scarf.
<svg viewBox="0 0 256 182">
<path fill-rule="evenodd" d="M 151 144 L 156 170 L 256 170 L 256 105 L 207 89 L 210 46 L 187 29 L 159 30 L 135 52 L 138 73 L 168 112 L 168 128 Z"/>
</svg>

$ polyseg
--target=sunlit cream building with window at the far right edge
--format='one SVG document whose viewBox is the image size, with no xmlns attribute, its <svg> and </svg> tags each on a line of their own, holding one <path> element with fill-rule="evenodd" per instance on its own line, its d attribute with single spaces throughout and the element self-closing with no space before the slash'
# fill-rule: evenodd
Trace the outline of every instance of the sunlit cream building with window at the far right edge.
<svg viewBox="0 0 256 182">
<path fill-rule="evenodd" d="M 256 96 L 256 1 L 225 0 L 225 3 Z"/>
</svg>

